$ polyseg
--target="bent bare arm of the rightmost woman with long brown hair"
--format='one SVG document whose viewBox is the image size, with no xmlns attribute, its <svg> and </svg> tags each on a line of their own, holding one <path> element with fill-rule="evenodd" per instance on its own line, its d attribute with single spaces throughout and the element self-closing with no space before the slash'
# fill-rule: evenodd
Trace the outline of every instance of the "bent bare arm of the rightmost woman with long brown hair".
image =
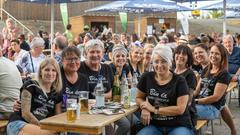
<svg viewBox="0 0 240 135">
<path fill-rule="evenodd" d="M 224 83 L 217 83 L 214 88 L 213 95 L 201 99 L 196 99 L 198 104 L 212 104 L 219 101 L 227 90 L 227 85 Z"/>
</svg>

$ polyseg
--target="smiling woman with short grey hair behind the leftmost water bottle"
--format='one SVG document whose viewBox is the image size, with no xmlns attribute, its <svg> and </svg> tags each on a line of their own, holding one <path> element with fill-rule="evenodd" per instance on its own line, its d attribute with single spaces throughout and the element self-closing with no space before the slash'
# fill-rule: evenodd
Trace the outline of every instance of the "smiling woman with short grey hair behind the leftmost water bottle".
<svg viewBox="0 0 240 135">
<path fill-rule="evenodd" d="M 90 40 L 85 46 L 85 51 L 87 59 L 81 62 L 79 71 L 87 76 L 90 91 L 89 98 L 95 98 L 94 88 L 97 85 L 98 79 L 102 79 L 105 89 L 105 99 L 111 99 L 113 73 L 109 65 L 101 63 L 104 51 L 102 41 L 98 39 Z M 115 133 L 116 135 L 126 135 L 130 130 L 131 124 L 126 117 L 116 121 L 115 124 L 118 125 L 118 129 Z"/>
</svg>

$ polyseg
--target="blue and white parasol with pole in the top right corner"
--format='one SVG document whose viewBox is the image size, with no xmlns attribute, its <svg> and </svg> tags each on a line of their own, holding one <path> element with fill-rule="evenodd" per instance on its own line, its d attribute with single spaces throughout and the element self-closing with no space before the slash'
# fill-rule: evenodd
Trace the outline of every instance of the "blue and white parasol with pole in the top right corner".
<svg viewBox="0 0 240 135">
<path fill-rule="evenodd" d="M 199 8 L 200 10 L 223 10 L 223 34 L 226 35 L 226 10 L 240 10 L 239 0 L 223 0 L 216 4 Z"/>
</svg>

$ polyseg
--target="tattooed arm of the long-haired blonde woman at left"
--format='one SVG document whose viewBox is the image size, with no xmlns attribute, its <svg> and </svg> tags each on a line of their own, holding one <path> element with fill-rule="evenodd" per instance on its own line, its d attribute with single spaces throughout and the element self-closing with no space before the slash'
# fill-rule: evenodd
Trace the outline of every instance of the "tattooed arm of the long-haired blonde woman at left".
<svg viewBox="0 0 240 135">
<path fill-rule="evenodd" d="M 31 100 L 31 93 L 27 90 L 23 90 L 21 94 L 22 117 L 31 124 L 39 125 L 38 119 L 31 113 Z"/>
</svg>

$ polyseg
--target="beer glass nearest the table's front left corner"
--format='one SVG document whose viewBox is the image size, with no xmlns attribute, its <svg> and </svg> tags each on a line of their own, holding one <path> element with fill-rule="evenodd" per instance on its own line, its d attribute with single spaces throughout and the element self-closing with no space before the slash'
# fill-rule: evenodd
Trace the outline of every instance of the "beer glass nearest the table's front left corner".
<svg viewBox="0 0 240 135">
<path fill-rule="evenodd" d="M 77 99 L 67 99 L 67 121 L 75 122 L 77 119 Z"/>
</svg>

